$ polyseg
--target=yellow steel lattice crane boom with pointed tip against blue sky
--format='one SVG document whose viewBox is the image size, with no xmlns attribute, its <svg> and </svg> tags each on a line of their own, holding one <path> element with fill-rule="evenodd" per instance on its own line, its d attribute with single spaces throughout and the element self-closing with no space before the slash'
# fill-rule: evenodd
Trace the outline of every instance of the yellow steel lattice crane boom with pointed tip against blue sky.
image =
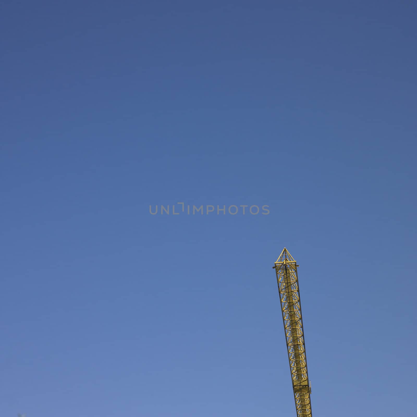
<svg viewBox="0 0 417 417">
<path fill-rule="evenodd" d="M 275 261 L 282 320 L 291 371 L 297 417 L 311 417 L 311 383 L 307 372 L 306 345 L 295 259 L 286 248 Z"/>
</svg>

